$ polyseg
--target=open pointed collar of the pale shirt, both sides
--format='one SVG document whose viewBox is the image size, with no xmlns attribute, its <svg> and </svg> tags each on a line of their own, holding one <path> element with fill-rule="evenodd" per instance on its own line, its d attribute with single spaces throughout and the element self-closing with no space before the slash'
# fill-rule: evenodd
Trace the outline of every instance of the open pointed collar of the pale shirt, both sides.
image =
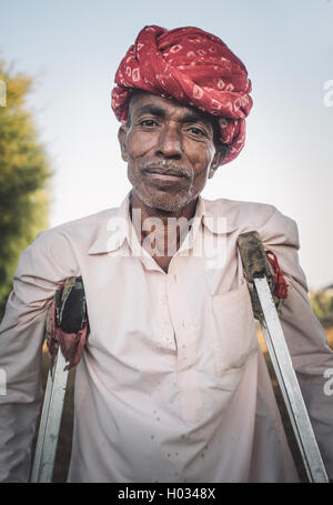
<svg viewBox="0 0 333 505">
<path fill-rule="evenodd" d="M 216 204 L 219 202 L 219 204 Z M 228 201 L 219 200 L 218 202 L 204 200 L 199 195 L 195 215 L 192 224 L 192 233 L 189 234 L 189 241 L 192 242 L 200 223 L 203 224 L 211 233 L 225 234 L 235 230 L 235 224 L 226 218 Z M 92 242 L 89 254 L 101 254 L 115 251 L 124 245 L 127 241 L 131 246 L 138 246 L 139 241 L 133 234 L 133 226 L 130 218 L 130 193 L 122 201 L 121 205 L 110 209 L 98 224 L 95 239 Z M 181 246 L 183 250 L 190 245 L 185 239 Z"/>
</svg>

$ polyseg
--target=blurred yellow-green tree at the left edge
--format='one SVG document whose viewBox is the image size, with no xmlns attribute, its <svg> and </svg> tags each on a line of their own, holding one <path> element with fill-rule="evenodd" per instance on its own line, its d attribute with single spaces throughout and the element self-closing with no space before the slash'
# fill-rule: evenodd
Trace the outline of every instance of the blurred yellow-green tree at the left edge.
<svg viewBox="0 0 333 505">
<path fill-rule="evenodd" d="M 27 108 L 32 79 L 0 59 L 0 319 L 21 252 L 48 228 L 51 176 L 44 147 Z M 4 87 L 3 87 L 4 82 Z M 3 97 L 2 97 L 3 98 Z M 3 104 L 6 105 L 3 107 Z"/>
</svg>

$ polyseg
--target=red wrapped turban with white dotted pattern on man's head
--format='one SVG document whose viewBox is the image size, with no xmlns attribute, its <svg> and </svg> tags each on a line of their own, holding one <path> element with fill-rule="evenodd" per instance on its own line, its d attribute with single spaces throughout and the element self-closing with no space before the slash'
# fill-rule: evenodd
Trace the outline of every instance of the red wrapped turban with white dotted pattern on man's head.
<svg viewBox="0 0 333 505">
<path fill-rule="evenodd" d="M 219 117 L 220 142 L 229 147 L 220 164 L 242 150 L 245 118 L 252 108 L 251 81 L 244 64 L 218 37 L 192 27 L 170 31 L 145 27 L 114 80 L 112 109 L 122 123 L 133 90 L 145 90 Z"/>
</svg>

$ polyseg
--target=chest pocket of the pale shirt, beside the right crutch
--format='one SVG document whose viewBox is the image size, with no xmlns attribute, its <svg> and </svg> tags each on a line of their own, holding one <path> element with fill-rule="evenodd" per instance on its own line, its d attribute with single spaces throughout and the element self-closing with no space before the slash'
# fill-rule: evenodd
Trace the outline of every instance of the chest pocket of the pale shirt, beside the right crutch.
<svg viewBox="0 0 333 505">
<path fill-rule="evenodd" d="M 254 316 L 245 282 L 236 290 L 211 296 L 211 336 L 215 373 L 219 376 L 242 368 L 258 350 Z"/>
</svg>

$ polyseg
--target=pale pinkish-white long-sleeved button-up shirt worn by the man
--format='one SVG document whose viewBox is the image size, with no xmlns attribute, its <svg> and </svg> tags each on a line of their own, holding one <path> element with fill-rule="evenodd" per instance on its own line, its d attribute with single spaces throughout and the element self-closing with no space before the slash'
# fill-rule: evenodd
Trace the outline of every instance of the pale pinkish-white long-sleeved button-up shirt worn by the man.
<svg viewBox="0 0 333 505">
<path fill-rule="evenodd" d="M 258 230 L 289 284 L 281 317 L 333 475 L 333 353 L 311 311 L 295 223 L 265 204 L 199 199 L 165 273 L 118 209 L 41 233 L 22 254 L 0 327 L 0 476 L 29 477 L 44 320 L 82 275 L 90 335 L 78 365 L 70 482 L 295 482 L 256 341 L 238 235 Z"/>
</svg>

